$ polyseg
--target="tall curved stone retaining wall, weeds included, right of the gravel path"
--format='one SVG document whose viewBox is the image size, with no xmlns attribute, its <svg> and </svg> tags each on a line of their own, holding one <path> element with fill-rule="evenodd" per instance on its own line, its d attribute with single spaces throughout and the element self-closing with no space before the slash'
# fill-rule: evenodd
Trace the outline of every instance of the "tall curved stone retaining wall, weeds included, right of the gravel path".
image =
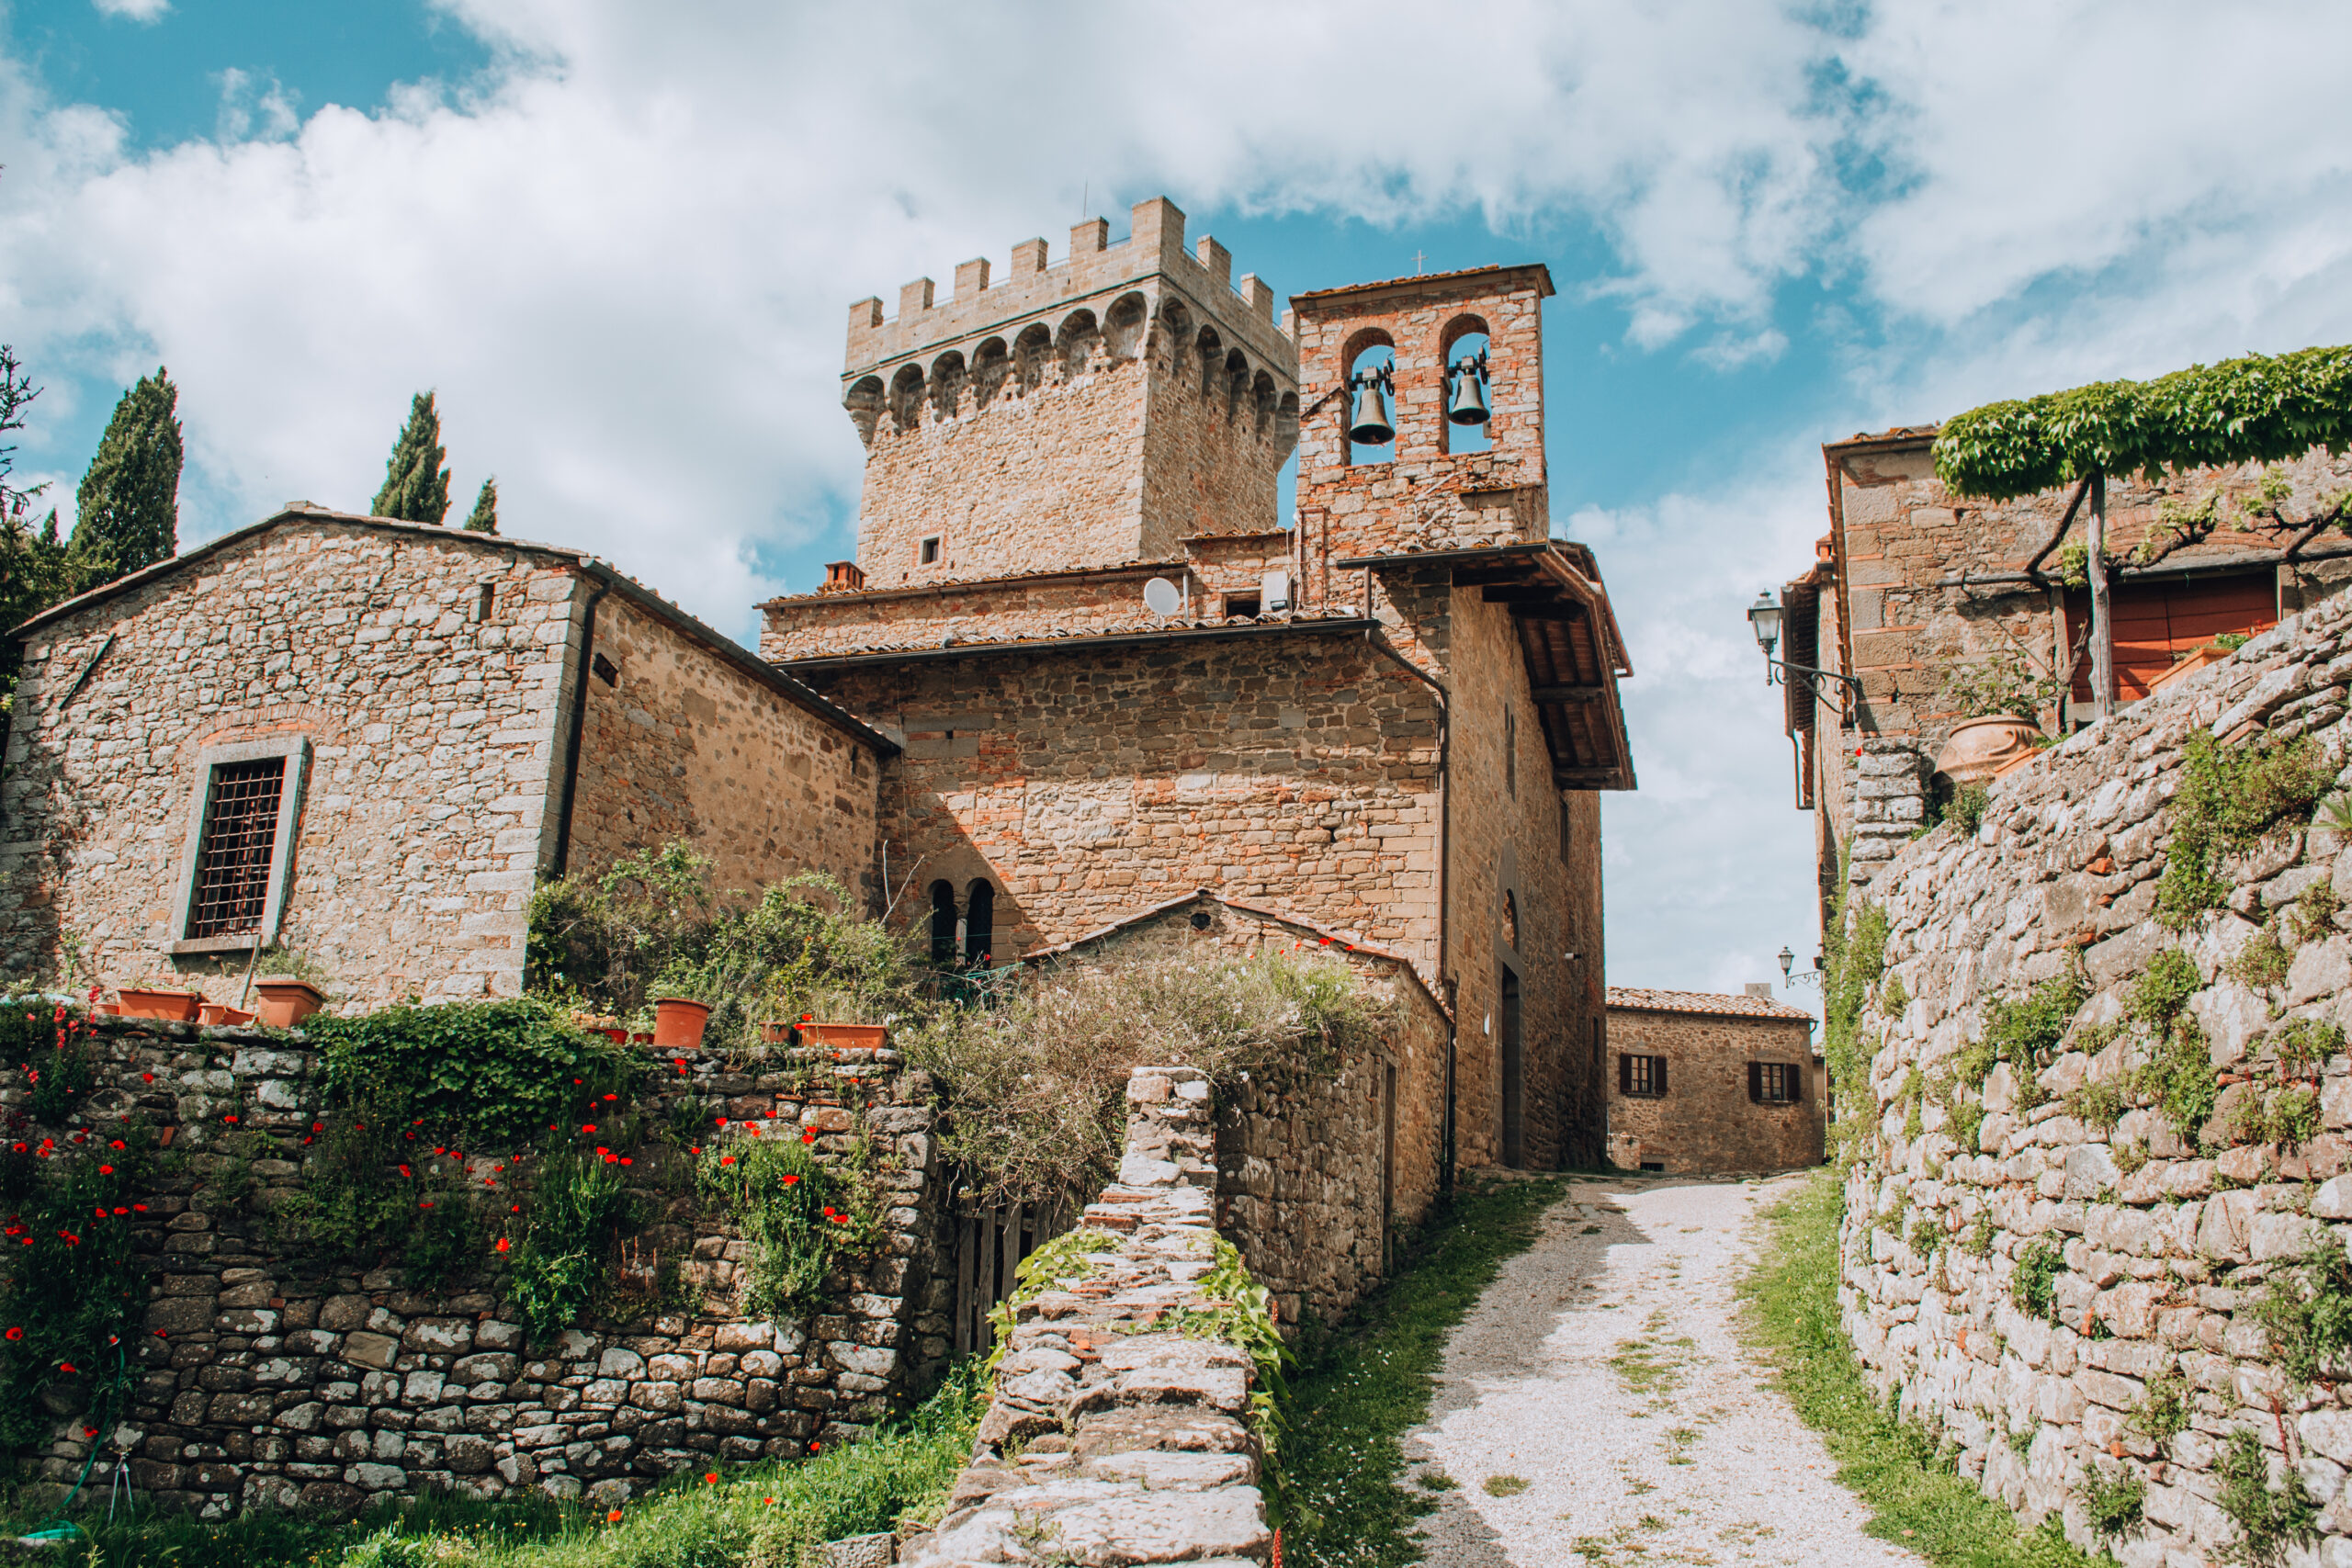
<svg viewBox="0 0 2352 1568">
<path fill-rule="evenodd" d="M 2352 1561 L 2347 623 L 1964 797 L 1832 961 L 1846 1331 L 1964 1474 L 2133 1568 Z"/>
</svg>

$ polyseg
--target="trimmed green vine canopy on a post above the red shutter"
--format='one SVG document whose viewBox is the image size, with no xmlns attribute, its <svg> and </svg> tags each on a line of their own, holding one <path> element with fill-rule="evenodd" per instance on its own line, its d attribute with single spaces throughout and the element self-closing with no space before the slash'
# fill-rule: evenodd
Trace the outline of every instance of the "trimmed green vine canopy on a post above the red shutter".
<svg viewBox="0 0 2352 1568">
<path fill-rule="evenodd" d="M 2352 346 L 1987 402 L 1943 423 L 1936 477 L 1957 496 L 2013 501 L 2091 473 L 2281 463 L 2312 447 L 2352 449 Z"/>
</svg>

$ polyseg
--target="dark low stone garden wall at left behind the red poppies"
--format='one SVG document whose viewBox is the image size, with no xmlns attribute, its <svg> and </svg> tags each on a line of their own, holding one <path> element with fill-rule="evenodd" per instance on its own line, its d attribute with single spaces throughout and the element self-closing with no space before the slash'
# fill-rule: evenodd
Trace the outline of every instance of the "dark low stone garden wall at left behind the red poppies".
<svg viewBox="0 0 2352 1568">
<path fill-rule="evenodd" d="M 82 1161 L 73 1182 L 108 1182 L 111 1147 L 153 1152 L 146 1180 L 111 1192 L 73 1241 L 42 1237 L 71 1246 L 75 1267 L 85 1246 L 120 1251 L 120 1272 L 101 1279 L 143 1300 L 127 1342 L 71 1373 L 26 1363 L 40 1335 L 19 1338 L 24 1326 L 7 1326 L 0 1347 L 16 1356 L 0 1396 L 24 1401 L 49 1378 L 38 1408 L 0 1418 L 19 1418 L 19 1432 L 38 1420 L 38 1476 L 56 1488 L 94 1455 L 92 1493 L 127 1460 L 151 1502 L 202 1516 L 529 1486 L 616 1505 L 680 1467 L 854 1436 L 946 1359 L 946 1178 L 924 1074 L 894 1051 L 753 1063 L 661 1051 L 637 1088 L 572 1107 L 581 1159 L 621 1173 L 633 1220 L 623 1269 L 590 1309 L 532 1338 L 496 1267 L 510 1246 L 499 1199 L 513 1194 L 508 1213 L 522 1215 L 548 1194 L 508 1147 L 452 1150 L 423 1124 L 397 1145 L 397 1168 L 383 1171 L 395 1192 L 423 1208 L 470 1194 L 480 1218 L 477 1232 L 452 1234 L 477 1234 L 482 1255 L 426 1288 L 400 1255 L 287 1241 L 310 1185 L 303 1161 L 346 1114 L 325 1103 L 320 1053 L 301 1034 L 89 1020 L 75 1039 L 89 1041 L 92 1070 L 75 1114 L 35 1119 L 38 1051 L 0 1091 L 9 1201 L 28 1199 L 40 1161 Z M 600 1119 L 623 1114 L 642 1138 L 623 1145 L 607 1126 L 612 1143 L 597 1147 Z M 833 1192 L 856 1192 L 873 1241 L 835 1260 L 818 1300 L 795 1312 L 746 1309 L 757 1241 L 746 1213 L 699 1180 L 734 1166 L 724 1150 L 748 1159 L 762 1138 L 800 1145 Z M 12 1215 L 9 1234 L 33 1246 L 35 1225 Z M 106 1394 L 115 1368 L 127 1387 Z"/>
</svg>

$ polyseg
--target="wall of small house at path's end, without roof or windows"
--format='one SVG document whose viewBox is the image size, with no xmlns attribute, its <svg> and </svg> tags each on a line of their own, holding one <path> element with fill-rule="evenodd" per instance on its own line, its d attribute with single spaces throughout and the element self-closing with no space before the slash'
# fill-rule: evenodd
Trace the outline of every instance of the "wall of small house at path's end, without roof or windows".
<svg viewBox="0 0 2352 1568">
<path fill-rule="evenodd" d="M 1665 1093 L 1628 1095 L 1616 1058 L 1663 1056 Z M 1748 1063 L 1797 1067 L 1804 1098 L 1748 1098 Z M 1823 1154 L 1825 1074 L 1802 1020 L 1609 1009 L 1609 1152 L 1670 1173 L 1795 1171 Z"/>
</svg>

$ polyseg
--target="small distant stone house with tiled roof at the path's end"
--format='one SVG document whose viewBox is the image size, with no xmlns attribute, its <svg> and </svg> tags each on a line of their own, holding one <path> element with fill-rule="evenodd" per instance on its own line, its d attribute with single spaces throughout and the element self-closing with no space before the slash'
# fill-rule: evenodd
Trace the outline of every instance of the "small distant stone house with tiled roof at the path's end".
<svg viewBox="0 0 2352 1568">
<path fill-rule="evenodd" d="M 1818 1166 L 1828 1074 L 1813 1016 L 1740 997 L 1609 987 L 1609 1161 L 1628 1171 L 1726 1173 Z"/>
</svg>

